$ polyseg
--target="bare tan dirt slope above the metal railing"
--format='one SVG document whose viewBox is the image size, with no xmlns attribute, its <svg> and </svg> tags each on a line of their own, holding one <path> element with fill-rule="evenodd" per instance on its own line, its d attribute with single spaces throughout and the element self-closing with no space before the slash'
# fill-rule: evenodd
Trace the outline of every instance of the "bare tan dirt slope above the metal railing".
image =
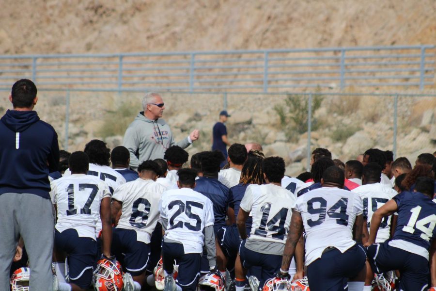
<svg viewBox="0 0 436 291">
<path fill-rule="evenodd" d="M 1 0 L 0 54 L 416 45 L 435 0 Z"/>
</svg>

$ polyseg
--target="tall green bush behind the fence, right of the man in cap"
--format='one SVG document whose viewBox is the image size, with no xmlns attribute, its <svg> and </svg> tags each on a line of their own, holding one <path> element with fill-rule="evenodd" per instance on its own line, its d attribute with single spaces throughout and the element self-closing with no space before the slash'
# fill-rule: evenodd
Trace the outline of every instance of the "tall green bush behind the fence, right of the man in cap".
<svg viewBox="0 0 436 291">
<path fill-rule="evenodd" d="M 319 95 L 312 96 L 312 115 L 311 130 L 318 128 L 316 118 L 313 113 L 321 107 L 322 97 Z M 280 126 L 286 135 L 286 138 L 295 141 L 296 135 L 307 131 L 309 109 L 309 96 L 288 94 L 284 104 L 276 105 L 274 110 L 279 115 Z"/>
</svg>

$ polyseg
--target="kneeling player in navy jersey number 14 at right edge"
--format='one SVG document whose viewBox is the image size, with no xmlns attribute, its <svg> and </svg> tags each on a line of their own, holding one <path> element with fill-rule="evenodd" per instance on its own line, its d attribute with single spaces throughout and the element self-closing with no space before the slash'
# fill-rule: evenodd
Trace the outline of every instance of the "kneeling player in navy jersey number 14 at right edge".
<svg viewBox="0 0 436 291">
<path fill-rule="evenodd" d="M 420 177 L 414 192 L 404 191 L 376 210 L 371 219 L 368 260 L 374 273 L 399 270 L 400 290 L 427 290 L 429 259 L 432 287 L 436 287 L 436 205 L 434 180 Z M 391 240 L 375 243 L 384 216 L 398 212 L 397 226 Z M 430 252 L 429 252 L 430 250 Z"/>
</svg>

